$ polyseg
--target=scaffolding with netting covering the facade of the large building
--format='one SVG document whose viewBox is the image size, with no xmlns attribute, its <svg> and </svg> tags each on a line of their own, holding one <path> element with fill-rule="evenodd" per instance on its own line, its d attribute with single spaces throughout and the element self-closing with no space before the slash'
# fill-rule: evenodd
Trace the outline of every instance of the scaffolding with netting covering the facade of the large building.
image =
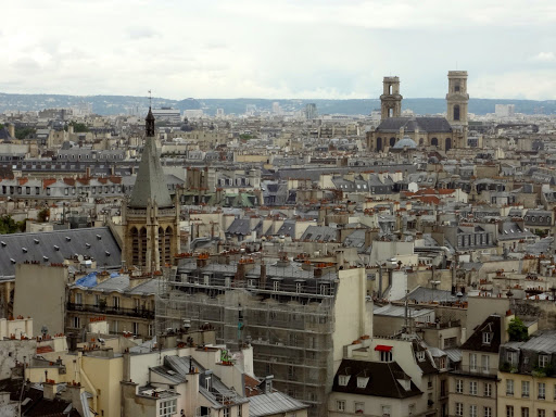
<svg viewBox="0 0 556 417">
<path fill-rule="evenodd" d="M 312 416 L 326 415 L 333 379 L 336 274 L 328 280 L 319 276 L 326 282 L 320 287 L 295 281 L 270 289 L 254 285 L 249 275 L 220 275 L 212 281 L 199 274 L 168 275 L 156 298 L 157 330 L 179 328 L 186 320 L 192 330 L 211 325 L 216 341 L 232 350 L 252 344 L 255 375 L 273 375 L 278 390 L 313 405 Z"/>
</svg>

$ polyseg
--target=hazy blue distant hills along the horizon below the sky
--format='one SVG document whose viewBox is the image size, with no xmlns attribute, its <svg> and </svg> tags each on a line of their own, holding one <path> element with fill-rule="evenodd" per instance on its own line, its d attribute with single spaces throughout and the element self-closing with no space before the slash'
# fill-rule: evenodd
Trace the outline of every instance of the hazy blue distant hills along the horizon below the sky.
<svg viewBox="0 0 556 417">
<path fill-rule="evenodd" d="M 369 114 L 380 109 L 378 99 L 366 100 L 267 100 L 267 99 L 153 99 L 153 105 L 172 106 L 180 111 L 202 109 L 204 113 L 214 115 L 216 109 L 224 109 L 226 114 L 243 114 L 247 105 L 255 105 L 257 110 L 269 111 L 274 102 L 280 103 L 285 111 L 303 109 L 307 103 L 315 103 L 319 114 Z M 144 110 L 149 101 L 137 96 L 62 96 L 62 94 L 8 94 L 0 93 L 0 112 L 7 110 L 38 111 L 51 108 L 70 108 L 83 103 L 91 103 L 97 114 L 130 114 L 134 110 Z M 556 114 L 556 100 L 503 100 L 470 99 L 469 112 L 475 114 L 494 113 L 495 104 L 515 104 L 516 112 L 525 114 Z M 446 111 L 444 99 L 404 99 L 403 109 L 410 109 L 417 114 L 438 114 Z"/>
</svg>

